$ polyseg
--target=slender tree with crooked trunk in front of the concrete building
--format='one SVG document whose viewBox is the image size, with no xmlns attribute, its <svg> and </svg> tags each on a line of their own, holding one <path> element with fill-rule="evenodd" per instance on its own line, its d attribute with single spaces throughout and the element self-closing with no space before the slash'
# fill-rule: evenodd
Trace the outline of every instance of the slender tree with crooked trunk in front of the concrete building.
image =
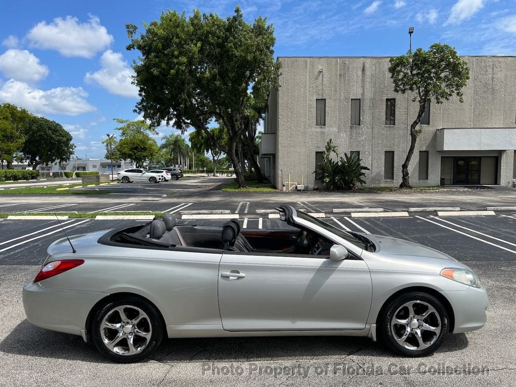
<svg viewBox="0 0 516 387">
<path fill-rule="evenodd" d="M 410 147 L 401 165 L 402 180 L 400 188 L 411 188 L 409 164 L 414 153 L 417 136 L 421 134 L 419 125 L 425 114 L 426 102 L 436 104 L 448 101 L 457 95 L 463 102 L 462 88 L 470 79 L 470 69 L 455 49 L 447 44 L 434 43 L 425 51 L 417 49 L 405 55 L 390 59 L 389 72 L 394 83 L 394 91 L 405 94 L 415 93 L 412 102 L 418 104 L 417 115 L 410 125 Z"/>
</svg>

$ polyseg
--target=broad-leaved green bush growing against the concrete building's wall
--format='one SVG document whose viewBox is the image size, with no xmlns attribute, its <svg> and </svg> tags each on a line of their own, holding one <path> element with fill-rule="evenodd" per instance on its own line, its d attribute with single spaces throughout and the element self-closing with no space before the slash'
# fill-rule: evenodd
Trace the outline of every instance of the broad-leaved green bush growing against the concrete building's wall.
<svg viewBox="0 0 516 387">
<path fill-rule="evenodd" d="M 318 180 L 325 183 L 328 189 L 355 189 L 358 185 L 366 184 L 362 179 L 365 172 L 369 168 L 361 164 L 361 159 L 357 155 L 349 156 L 344 153 L 339 162 L 332 159 L 332 155 L 338 157 L 337 146 L 333 144 L 330 138 L 326 143 L 326 150 L 322 163 L 320 163 L 316 170 Z"/>
</svg>

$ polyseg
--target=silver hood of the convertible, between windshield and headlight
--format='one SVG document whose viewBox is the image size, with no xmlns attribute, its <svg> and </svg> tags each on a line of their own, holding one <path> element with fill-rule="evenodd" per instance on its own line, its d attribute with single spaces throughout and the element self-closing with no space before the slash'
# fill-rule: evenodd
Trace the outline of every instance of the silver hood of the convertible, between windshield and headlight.
<svg viewBox="0 0 516 387">
<path fill-rule="evenodd" d="M 382 235 L 364 234 L 364 236 L 374 242 L 376 245 L 375 253 L 380 255 L 403 255 L 408 257 L 438 258 L 457 262 L 455 258 L 449 256 L 448 254 L 445 254 L 436 249 L 432 249 L 431 247 L 418 245 L 417 243 L 413 243 L 408 240 Z"/>
</svg>

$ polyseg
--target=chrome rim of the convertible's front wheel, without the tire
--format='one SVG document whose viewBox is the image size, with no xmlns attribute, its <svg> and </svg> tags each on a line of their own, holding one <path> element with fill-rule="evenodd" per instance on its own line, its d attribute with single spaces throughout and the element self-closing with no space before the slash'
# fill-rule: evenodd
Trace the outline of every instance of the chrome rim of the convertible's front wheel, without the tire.
<svg viewBox="0 0 516 387">
<path fill-rule="evenodd" d="M 441 317 L 425 301 L 409 301 L 401 305 L 391 319 L 391 333 L 403 348 L 418 351 L 430 347 L 441 333 Z"/>
</svg>

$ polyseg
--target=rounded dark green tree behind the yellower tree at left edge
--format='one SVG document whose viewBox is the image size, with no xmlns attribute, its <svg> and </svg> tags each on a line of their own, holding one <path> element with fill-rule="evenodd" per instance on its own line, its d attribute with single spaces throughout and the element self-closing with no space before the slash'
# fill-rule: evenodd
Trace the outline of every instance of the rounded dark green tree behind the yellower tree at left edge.
<svg viewBox="0 0 516 387">
<path fill-rule="evenodd" d="M 22 156 L 36 169 L 56 161 L 68 162 L 75 149 L 72 136 L 60 124 L 44 117 L 30 117 L 25 124 Z"/>
</svg>

